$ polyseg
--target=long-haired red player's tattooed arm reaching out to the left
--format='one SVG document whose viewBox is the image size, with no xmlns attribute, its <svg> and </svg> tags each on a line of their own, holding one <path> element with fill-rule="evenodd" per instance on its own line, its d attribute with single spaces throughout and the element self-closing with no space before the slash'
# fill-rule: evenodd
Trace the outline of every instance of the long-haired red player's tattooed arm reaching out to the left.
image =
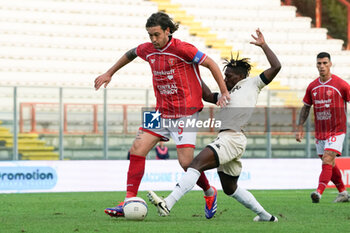
<svg viewBox="0 0 350 233">
<path fill-rule="evenodd" d="M 130 63 L 136 57 L 136 48 L 130 49 L 128 52 L 126 52 L 106 73 L 98 76 L 95 79 L 95 90 L 98 90 L 103 84 L 104 88 L 106 88 L 112 80 L 112 76 L 115 74 L 115 72 L 126 64 Z"/>
</svg>

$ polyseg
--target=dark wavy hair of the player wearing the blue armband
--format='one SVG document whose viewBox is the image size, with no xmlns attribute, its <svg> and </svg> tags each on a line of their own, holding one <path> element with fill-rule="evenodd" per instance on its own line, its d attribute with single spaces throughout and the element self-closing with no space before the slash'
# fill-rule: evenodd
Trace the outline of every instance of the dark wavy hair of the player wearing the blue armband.
<svg viewBox="0 0 350 233">
<path fill-rule="evenodd" d="M 167 28 L 170 29 L 170 33 L 174 33 L 178 28 L 179 24 L 174 23 L 173 19 L 164 12 L 153 13 L 146 22 L 146 28 L 160 26 L 163 31 Z"/>
</svg>

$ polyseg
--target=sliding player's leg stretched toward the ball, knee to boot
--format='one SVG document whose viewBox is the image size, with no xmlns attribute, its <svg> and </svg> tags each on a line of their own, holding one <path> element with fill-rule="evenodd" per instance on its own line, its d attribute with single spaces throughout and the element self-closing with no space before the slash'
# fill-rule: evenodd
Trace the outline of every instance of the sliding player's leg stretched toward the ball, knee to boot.
<svg viewBox="0 0 350 233">
<path fill-rule="evenodd" d="M 156 205 L 161 216 L 168 215 L 175 203 L 194 187 L 201 172 L 215 168 L 217 164 L 214 152 L 208 147 L 204 148 L 192 161 L 186 173 L 181 177 L 169 196 L 162 200 L 154 192 L 149 191 L 148 197 L 150 201 Z"/>
</svg>

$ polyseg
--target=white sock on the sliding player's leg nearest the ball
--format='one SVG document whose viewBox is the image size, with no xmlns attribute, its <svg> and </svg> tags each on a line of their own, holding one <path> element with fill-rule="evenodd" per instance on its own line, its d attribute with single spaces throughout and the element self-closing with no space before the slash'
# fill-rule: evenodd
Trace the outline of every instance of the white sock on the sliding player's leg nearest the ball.
<svg viewBox="0 0 350 233">
<path fill-rule="evenodd" d="M 167 196 L 164 200 L 167 204 L 168 209 L 170 210 L 175 203 L 180 200 L 180 198 L 190 191 L 197 180 L 199 179 L 201 173 L 193 168 L 188 168 L 185 172 L 185 175 L 181 177 L 179 182 L 176 184 L 174 190 Z"/>
</svg>

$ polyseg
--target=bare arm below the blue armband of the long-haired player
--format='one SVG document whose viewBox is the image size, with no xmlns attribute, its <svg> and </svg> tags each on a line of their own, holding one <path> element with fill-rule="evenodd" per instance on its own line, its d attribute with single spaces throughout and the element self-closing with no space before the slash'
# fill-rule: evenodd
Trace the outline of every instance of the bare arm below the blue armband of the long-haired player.
<svg viewBox="0 0 350 233">
<path fill-rule="evenodd" d="M 222 77 L 219 66 L 210 57 L 207 57 L 201 65 L 210 70 L 216 83 L 219 86 L 221 97 L 218 99 L 216 104 L 221 107 L 226 106 L 227 102 L 230 100 L 230 94 L 227 91 L 227 87 L 224 78 Z"/>
</svg>

